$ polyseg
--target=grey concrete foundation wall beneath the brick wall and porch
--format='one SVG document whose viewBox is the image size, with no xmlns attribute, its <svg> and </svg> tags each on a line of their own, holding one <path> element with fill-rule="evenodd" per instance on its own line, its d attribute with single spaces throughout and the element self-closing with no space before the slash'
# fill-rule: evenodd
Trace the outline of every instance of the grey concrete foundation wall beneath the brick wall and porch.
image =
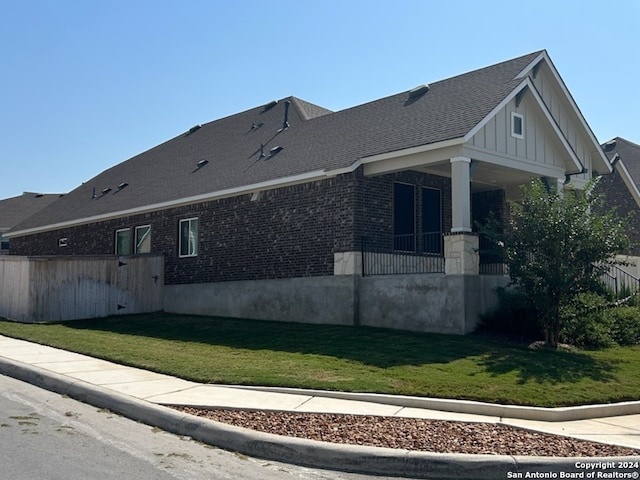
<svg viewBox="0 0 640 480">
<path fill-rule="evenodd" d="M 167 312 L 465 334 L 506 277 L 326 276 L 165 286 Z"/>
</svg>

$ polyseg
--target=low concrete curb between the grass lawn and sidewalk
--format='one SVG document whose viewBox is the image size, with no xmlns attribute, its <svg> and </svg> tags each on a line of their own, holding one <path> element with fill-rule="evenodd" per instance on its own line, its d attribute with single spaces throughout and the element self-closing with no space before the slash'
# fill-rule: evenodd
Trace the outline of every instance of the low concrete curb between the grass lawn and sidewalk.
<svg viewBox="0 0 640 480">
<path fill-rule="evenodd" d="M 351 393 L 311 390 L 306 388 L 260 387 L 245 385 L 224 385 L 227 388 L 255 390 L 259 392 L 291 393 L 311 397 L 335 398 L 360 402 L 380 403 L 404 408 L 423 408 L 443 412 L 484 415 L 488 417 L 514 418 L 541 422 L 568 422 L 589 420 L 592 418 L 618 417 L 640 414 L 640 402 L 605 403 L 580 405 L 577 407 L 528 407 L 518 405 L 497 405 L 471 400 L 449 400 L 442 398 L 409 397 L 404 395 L 385 395 L 380 393 Z"/>
</svg>

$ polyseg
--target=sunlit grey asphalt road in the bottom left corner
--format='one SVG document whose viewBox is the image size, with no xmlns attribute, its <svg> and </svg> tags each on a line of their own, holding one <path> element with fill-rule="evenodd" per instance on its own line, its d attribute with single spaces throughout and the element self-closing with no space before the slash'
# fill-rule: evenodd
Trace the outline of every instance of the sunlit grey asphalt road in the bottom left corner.
<svg viewBox="0 0 640 480">
<path fill-rule="evenodd" d="M 364 480 L 203 445 L 0 375 L 3 480 Z"/>
</svg>

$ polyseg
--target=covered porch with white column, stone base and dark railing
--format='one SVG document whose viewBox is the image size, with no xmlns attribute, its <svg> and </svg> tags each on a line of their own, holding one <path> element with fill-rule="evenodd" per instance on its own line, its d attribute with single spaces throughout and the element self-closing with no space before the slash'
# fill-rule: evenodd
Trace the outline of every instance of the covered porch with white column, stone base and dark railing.
<svg viewBox="0 0 640 480">
<path fill-rule="evenodd" d="M 394 181 L 393 234 L 381 240 L 365 236 L 357 255 L 362 276 L 410 273 L 446 275 L 504 274 L 495 256 L 482 255 L 477 222 L 491 212 L 504 215 L 507 201 L 521 198 L 520 186 L 533 178 L 562 189 L 572 176 L 567 167 L 508 159 L 463 143 L 367 159 L 363 174 L 369 178 L 416 172 L 448 181 L 449 192 Z M 380 245 L 384 245 L 381 248 Z M 355 265 L 354 265 L 355 267 Z M 337 272 L 336 272 L 337 273 Z"/>
</svg>

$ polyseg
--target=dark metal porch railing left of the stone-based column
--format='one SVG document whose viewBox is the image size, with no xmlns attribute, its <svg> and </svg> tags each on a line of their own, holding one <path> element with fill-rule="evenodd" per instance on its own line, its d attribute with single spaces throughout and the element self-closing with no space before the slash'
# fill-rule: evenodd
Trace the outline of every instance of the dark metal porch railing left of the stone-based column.
<svg viewBox="0 0 640 480">
<path fill-rule="evenodd" d="M 442 233 L 362 238 L 362 276 L 444 273 Z"/>
</svg>

